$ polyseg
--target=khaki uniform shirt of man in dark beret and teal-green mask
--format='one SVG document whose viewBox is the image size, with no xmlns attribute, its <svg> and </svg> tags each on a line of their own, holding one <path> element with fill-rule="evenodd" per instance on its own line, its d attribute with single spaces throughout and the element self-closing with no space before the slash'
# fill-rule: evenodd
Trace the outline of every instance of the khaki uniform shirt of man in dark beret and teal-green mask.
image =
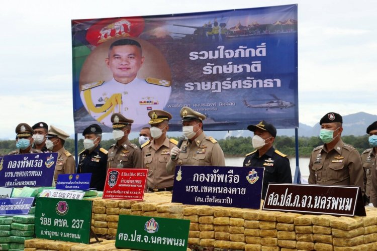
<svg viewBox="0 0 377 251">
<path fill-rule="evenodd" d="M 310 157 L 309 172 L 309 184 L 359 186 L 364 194 L 360 155 L 342 140 L 329 152 L 326 146 L 315 148 Z"/>
</svg>

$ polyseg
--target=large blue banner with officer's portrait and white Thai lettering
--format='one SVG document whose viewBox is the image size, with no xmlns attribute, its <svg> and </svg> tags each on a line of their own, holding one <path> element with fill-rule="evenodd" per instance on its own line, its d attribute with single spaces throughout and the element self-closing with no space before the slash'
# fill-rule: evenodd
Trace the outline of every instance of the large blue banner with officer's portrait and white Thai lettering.
<svg viewBox="0 0 377 251">
<path fill-rule="evenodd" d="M 297 5 L 147 17 L 72 20 L 75 133 L 111 115 L 189 106 L 207 131 L 244 130 L 261 119 L 297 128 Z"/>
</svg>

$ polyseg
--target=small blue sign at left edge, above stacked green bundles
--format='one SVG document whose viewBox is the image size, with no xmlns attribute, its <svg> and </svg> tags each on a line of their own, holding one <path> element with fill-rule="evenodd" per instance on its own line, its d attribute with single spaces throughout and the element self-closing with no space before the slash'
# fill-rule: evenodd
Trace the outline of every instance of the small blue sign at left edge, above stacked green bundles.
<svg viewBox="0 0 377 251">
<path fill-rule="evenodd" d="M 28 214 L 34 197 L 0 199 L 0 215 Z"/>
</svg>

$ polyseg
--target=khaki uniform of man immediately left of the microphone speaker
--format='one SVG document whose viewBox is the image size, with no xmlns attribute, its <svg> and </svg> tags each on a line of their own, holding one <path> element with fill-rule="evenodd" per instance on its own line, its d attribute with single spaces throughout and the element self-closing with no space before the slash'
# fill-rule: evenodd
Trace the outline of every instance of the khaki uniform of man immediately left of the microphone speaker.
<svg viewBox="0 0 377 251">
<path fill-rule="evenodd" d="M 161 189 L 173 186 L 174 174 L 166 172 L 166 163 L 170 160 L 170 150 L 177 145 L 176 140 L 165 138 L 163 144 L 156 148 L 154 140 L 142 146 L 143 163 L 148 169 L 149 188 Z"/>
</svg>

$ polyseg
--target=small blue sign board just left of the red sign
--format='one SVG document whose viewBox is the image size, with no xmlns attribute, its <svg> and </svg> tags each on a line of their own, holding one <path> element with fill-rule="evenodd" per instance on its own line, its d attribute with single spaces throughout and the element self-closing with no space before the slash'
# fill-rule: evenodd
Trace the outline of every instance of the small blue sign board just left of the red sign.
<svg viewBox="0 0 377 251">
<path fill-rule="evenodd" d="M 56 189 L 89 190 L 90 178 L 91 173 L 59 174 L 56 182 Z"/>
</svg>

